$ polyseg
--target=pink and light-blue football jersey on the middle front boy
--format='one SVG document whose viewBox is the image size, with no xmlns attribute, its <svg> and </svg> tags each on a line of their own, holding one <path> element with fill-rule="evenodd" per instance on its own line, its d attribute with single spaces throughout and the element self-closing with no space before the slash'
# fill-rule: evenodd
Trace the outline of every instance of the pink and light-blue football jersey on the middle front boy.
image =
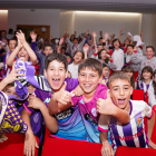
<svg viewBox="0 0 156 156">
<path fill-rule="evenodd" d="M 78 104 L 79 111 L 86 130 L 88 133 L 88 140 L 94 143 L 100 143 L 99 130 L 98 130 L 98 113 L 97 113 L 97 100 L 98 98 L 107 98 L 107 87 L 105 85 L 98 85 L 94 97 L 90 100 L 85 100 L 85 96 L 71 98 L 74 106 Z"/>
</svg>

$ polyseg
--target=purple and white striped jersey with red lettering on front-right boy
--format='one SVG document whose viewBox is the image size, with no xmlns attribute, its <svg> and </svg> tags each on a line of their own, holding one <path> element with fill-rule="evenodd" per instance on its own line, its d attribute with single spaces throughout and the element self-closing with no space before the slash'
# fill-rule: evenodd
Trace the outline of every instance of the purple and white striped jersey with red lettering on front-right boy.
<svg viewBox="0 0 156 156">
<path fill-rule="evenodd" d="M 130 121 L 120 124 L 115 117 L 100 115 L 99 130 L 107 131 L 110 127 L 114 150 L 118 146 L 148 147 L 148 138 L 145 131 L 144 117 L 152 118 L 153 109 L 143 100 L 129 100 Z"/>
</svg>

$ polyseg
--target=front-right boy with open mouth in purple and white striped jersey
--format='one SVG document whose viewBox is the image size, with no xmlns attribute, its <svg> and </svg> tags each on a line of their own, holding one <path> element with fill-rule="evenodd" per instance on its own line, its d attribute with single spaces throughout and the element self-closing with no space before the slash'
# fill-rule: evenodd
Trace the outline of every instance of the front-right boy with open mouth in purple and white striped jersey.
<svg viewBox="0 0 156 156">
<path fill-rule="evenodd" d="M 113 148 L 107 140 L 108 126 L 110 127 L 111 139 L 114 143 L 114 150 L 118 146 L 129 147 L 143 147 L 143 148 L 155 148 L 156 145 L 152 142 L 152 134 L 155 125 L 155 113 L 153 109 L 143 100 L 129 100 L 133 94 L 133 87 L 130 86 L 130 79 L 125 72 L 115 72 L 109 77 L 108 80 L 109 92 L 107 92 L 107 99 L 98 99 L 97 110 L 100 113 L 99 117 L 99 129 L 100 139 L 103 143 L 101 154 L 103 156 L 114 155 Z M 129 113 L 130 121 L 121 125 L 113 116 L 106 116 L 107 110 L 103 109 L 104 104 L 113 100 L 111 111 L 115 106 Z M 144 117 L 148 120 L 148 133 L 146 135 Z"/>
</svg>

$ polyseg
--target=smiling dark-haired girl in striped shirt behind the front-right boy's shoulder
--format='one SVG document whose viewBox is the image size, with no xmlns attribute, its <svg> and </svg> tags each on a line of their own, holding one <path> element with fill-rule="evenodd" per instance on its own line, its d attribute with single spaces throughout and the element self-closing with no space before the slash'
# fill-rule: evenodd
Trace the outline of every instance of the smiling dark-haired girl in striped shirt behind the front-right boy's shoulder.
<svg viewBox="0 0 156 156">
<path fill-rule="evenodd" d="M 148 88 L 149 86 L 152 86 L 152 84 L 153 84 L 153 68 L 149 66 L 145 66 L 142 70 L 140 78 L 137 80 L 137 88 L 136 88 L 136 89 L 144 90 L 145 94 L 144 100 L 146 100 Z"/>
</svg>

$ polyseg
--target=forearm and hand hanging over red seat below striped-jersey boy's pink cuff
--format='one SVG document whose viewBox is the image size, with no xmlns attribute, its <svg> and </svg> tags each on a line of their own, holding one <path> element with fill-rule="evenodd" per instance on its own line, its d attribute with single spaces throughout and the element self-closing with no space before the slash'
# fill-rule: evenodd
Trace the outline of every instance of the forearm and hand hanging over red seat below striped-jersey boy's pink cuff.
<svg viewBox="0 0 156 156">
<path fill-rule="evenodd" d="M 103 144 L 101 156 L 114 156 L 114 149 L 108 142 L 108 131 L 100 131 L 99 138 Z"/>
</svg>

